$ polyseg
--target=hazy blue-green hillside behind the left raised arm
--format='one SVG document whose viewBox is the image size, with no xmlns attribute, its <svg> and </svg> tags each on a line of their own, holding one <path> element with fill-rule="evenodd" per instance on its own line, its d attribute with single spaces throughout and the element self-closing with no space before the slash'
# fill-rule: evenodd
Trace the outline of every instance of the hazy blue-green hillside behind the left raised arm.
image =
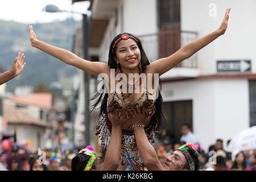
<svg viewBox="0 0 256 182">
<path fill-rule="evenodd" d="M 39 40 L 52 46 L 72 50 L 72 39 L 81 22 L 67 19 L 64 22 L 33 24 Z M 77 68 L 64 64 L 62 61 L 32 47 L 28 38 L 28 24 L 6 22 L 0 20 L 0 66 L 9 70 L 18 52 L 26 56 L 26 66 L 15 79 L 7 82 L 7 90 L 16 85 L 31 85 L 44 81 L 47 84 L 57 81 L 59 76 L 71 76 Z"/>
</svg>

